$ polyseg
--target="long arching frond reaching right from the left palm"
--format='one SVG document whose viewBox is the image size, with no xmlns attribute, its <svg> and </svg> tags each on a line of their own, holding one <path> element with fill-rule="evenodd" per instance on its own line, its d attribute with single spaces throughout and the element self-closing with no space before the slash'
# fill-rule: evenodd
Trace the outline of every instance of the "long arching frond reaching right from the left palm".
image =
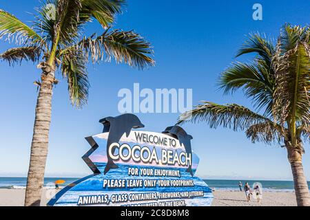
<svg viewBox="0 0 310 220">
<path fill-rule="evenodd" d="M 116 63 L 126 63 L 138 69 L 155 64 L 149 56 L 153 54 L 150 44 L 132 31 L 114 30 L 98 37 L 93 34 L 72 47 L 83 48 L 93 62 L 114 59 Z"/>
</svg>

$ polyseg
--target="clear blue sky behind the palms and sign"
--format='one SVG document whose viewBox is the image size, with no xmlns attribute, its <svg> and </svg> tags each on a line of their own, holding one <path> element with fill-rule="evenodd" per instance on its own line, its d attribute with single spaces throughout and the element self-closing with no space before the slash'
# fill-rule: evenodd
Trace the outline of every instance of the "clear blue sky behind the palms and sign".
<svg viewBox="0 0 310 220">
<path fill-rule="evenodd" d="M 261 3 L 263 20 L 252 19 L 252 5 Z M 22 21 L 31 21 L 38 1 L 1 1 L 0 8 Z M 90 98 L 83 109 L 71 106 L 67 85 L 54 88 L 50 148 L 45 175 L 82 177 L 91 171 L 81 159 L 90 146 L 84 137 L 102 131 L 99 119 L 118 115 L 118 90 L 141 88 L 192 88 L 193 102 L 200 100 L 251 107 L 240 92 L 223 96 L 216 80 L 232 61 L 250 32 L 265 32 L 276 39 L 285 23 L 307 25 L 309 0 L 299 1 L 130 1 L 115 28 L 135 30 L 154 47 L 156 67 L 138 71 L 127 65 L 90 65 Z M 102 32 L 89 25 L 87 33 Z M 0 43 L 0 52 L 11 45 Z M 239 58 L 246 61 L 250 57 Z M 0 176 L 25 176 L 28 170 L 34 107 L 40 71 L 33 63 L 9 67 L 0 63 Z M 176 122 L 175 113 L 138 114 L 145 129 L 161 132 Z M 279 146 L 252 144 L 245 134 L 229 129 L 209 129 L 206 124 L 186 124 L 192 146 L 200 157 L 198 175 L 223 179 L 292 179 L 287 154 Z M 305 146 L 306 151 L 309 144 Z M 310 179 L 310 155 L 304 155 L 304 172 Z"/>
</svg>

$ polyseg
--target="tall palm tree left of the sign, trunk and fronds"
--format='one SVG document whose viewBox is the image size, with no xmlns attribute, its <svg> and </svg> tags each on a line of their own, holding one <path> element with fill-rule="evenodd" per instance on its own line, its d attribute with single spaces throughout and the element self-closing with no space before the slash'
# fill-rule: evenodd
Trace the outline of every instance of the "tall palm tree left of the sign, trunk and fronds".
<svg viewBox="0 0 310 220">
<path fill-rule="evenodd" d="M 58 83 L 58 70 L 67 80 L 70 100 L 76 107 L 87 102 L 89 82 L 87 62 L 127 63 L 143 69 L 154 65 L 150 44 L 133 31 L 112 30 L 116 14 L 124 0 L 47 0 L 37 9 L 30 27 L 12 14 L 0 10 L 0 38 L 14 41 L 14 47 L 0 58 L 10 65 L 22 60 L 39 63 L 42 69 L 34 131 L 31 144 L 25 206 L 39 206 L 43 187 L 48 134 L 52 111 L 52 89 Z M 101 35 L 83 36 L 90 21 L 98 21 L 105 30 Z"/>
</svg>

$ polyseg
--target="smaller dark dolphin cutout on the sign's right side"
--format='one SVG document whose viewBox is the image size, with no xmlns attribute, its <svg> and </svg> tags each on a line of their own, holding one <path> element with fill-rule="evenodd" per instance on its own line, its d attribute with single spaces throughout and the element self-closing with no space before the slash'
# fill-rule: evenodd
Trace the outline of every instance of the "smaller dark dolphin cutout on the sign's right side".
<svg viewBox="0 0 310 220">
<path fill-rule="evenodd" d="M 180 144 L 183 144 L 183 146 L 185 147 L 186 153 L 190 153 L 192 162 L 193 159 L 192 144 L 191 144 L 191 140 L 193 139 L 192 135 L 187 134 L 186 131 L 180 126 L 168 126 L 167 129 L 165 129 L 165 131 L 163 131 L 162 133 L 165 133 L 172 137 L 176 137 L 180 142 Z M 190 173 L 192 176 L 194 176 L 192 170 L 192 164 L 188 166 L 186 171 Z"/>
</svg>

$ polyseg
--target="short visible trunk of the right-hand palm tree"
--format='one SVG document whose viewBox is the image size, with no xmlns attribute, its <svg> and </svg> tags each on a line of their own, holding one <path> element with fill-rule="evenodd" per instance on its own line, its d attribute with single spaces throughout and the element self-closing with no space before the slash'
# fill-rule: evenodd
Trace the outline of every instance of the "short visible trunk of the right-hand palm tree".
<svg viewBox="0 0 310 220">
<path fill-rule="evenodd" d="M 298 206 L 310 206 L 310 194 L 307 179 L 302 167 L 302 154 L 297 148 L 287 146 L 289 163 L 293 173 L 294 188 Z"/>
</svg>

